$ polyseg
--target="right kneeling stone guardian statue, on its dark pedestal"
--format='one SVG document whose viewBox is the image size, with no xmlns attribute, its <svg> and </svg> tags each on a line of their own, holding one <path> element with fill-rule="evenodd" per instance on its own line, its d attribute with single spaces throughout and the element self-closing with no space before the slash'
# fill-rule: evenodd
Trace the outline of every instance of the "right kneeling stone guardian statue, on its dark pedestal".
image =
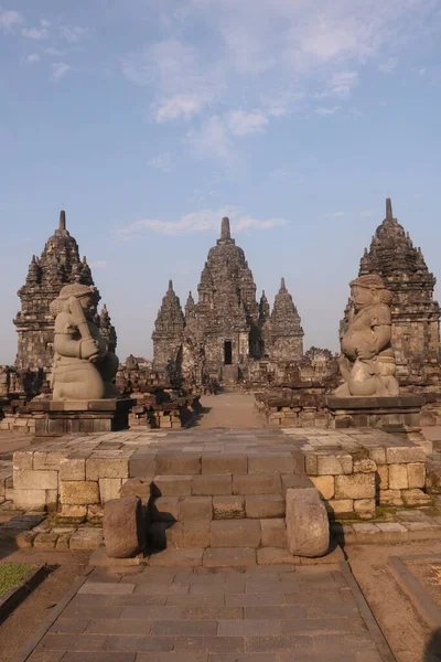
<svg viewBox="0 0 441 662">
<path fill-rule="evenodd" d="M 342 338 L 340 372 L 345 383 L 335 391 L 340 397 L 394 397 L 399 395 L 391 348 L 392 293 L 375 274 L 351 284 L 352 310 Z"/>
</svg>

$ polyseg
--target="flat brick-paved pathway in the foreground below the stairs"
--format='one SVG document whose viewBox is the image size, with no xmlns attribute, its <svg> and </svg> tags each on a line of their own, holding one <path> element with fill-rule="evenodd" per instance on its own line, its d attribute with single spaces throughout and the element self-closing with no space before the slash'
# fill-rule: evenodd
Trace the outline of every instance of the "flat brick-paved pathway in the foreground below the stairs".
<svg viewBox="0 0 441 662">
<path fill-rule="evenodd" d="M 128 573 L 128 574 L 120 574 Z M 29 662 L 392 662 L 348 566 L 95 568 Z"/>
</svg>

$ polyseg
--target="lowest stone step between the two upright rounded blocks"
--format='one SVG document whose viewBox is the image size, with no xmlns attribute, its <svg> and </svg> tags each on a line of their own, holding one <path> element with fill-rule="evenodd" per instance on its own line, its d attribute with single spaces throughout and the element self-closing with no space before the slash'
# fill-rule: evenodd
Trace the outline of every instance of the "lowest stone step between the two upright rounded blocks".
<svg viewBox="0 0 441 662">
<path fill-rule="evenodd" d="M 158 528 L 153 528 L 158 535 Z M 168 549 L 200 547 L 287 547 L 287 527 L 283 519 L 273 520 L 213 520 L 176 522 L 165 531 Z M 160 538 L 159 538 L 160 540 Z M 159 542 L 154 540 L 154 542 Z"/>
</svg>

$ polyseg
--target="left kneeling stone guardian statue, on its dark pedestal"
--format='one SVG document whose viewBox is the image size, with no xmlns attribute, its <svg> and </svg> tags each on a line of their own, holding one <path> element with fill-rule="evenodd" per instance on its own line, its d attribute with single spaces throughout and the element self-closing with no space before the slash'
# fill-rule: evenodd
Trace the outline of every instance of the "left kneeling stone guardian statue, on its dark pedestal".
<svg viewBox="0 0 441 662">
<path fill-rule="evenodd" d="M 120 397 L 112 383 L 118 357 L 95 323 L 99 292 L 93 286 L 66 285 L 51 303 L 55 317 L 52 388 L 54 401 Z"/>
</svg>

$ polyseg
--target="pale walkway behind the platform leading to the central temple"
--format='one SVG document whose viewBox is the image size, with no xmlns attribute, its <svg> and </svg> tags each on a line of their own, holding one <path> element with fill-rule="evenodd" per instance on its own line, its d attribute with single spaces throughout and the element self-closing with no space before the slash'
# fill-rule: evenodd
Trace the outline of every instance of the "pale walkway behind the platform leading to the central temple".
<svg viewBox="0 0 441 662">
<path fill-rule="evenodd" d="M 252 394 L 230 391 L 204 395 L 201 404 L 205 413 L 197 421 L 202 428 L 262 428 L 266 420 L 255 408 Z"/>
</svg>

